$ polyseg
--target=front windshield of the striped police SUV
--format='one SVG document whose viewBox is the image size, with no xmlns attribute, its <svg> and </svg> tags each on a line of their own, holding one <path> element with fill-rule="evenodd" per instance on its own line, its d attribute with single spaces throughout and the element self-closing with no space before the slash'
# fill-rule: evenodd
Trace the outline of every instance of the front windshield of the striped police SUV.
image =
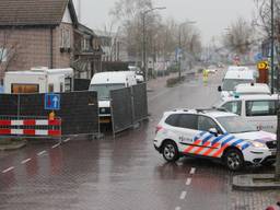
<svg viewBox="0 0 280 210">
<path fill-rule="evenodd" d="M 243 120 L 240 116 L 217 117 L 217 120 L 229 133 L 257 131 L 255 126 Z"/>
</svg>

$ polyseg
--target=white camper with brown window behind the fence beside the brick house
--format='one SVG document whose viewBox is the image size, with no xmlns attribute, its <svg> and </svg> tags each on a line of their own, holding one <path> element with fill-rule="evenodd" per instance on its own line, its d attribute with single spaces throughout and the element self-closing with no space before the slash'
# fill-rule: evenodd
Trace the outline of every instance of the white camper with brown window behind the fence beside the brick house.
<svg viewBox="0 0 280 210">
<path fill-rule="evenodd" d="M 73 90 L 73 69 L 33 68 L 27 71 L 8 71 L 4 93 L 52 93 Z"/>
</svg>

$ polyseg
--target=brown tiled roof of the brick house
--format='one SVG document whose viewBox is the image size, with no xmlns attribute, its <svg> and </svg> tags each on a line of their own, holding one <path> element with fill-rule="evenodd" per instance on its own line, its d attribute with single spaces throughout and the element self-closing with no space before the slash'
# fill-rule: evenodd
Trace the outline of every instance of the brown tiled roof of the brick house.
<svg viewBox="0 0 280 210">
<path fill-rule="evenodd" d="M 78 22 L 72 0 L 0 0 L 0 26 L 60 24 L 68 5 Z"/>
</svg>

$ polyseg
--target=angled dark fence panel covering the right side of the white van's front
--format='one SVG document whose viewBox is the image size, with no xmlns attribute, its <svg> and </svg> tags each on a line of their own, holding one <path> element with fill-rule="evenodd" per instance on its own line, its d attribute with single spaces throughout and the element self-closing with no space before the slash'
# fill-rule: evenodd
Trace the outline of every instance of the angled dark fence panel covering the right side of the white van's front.
<svg viewBox="0 0 280 210">
<path fill-rule="evenodd" d="M 133 125 L 131 89 L 110 91 L 113 131 L 120 132 Z"/>
</svg>

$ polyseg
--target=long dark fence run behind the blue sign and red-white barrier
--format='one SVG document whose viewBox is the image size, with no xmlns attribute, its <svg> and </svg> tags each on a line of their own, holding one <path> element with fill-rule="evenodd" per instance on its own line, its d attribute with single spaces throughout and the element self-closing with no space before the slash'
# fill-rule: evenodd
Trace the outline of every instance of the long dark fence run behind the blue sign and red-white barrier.
<svg viewBox="0 0 280 210">
<path fill-rule="evenodd" d="M 45 94 L 0 94 L 0 115 L 48 116 L 44 107 Z M 62 135 L 90 135 L 98 132 L 98 101 L 96 92 L 60 93 Z"/>
</svg>

